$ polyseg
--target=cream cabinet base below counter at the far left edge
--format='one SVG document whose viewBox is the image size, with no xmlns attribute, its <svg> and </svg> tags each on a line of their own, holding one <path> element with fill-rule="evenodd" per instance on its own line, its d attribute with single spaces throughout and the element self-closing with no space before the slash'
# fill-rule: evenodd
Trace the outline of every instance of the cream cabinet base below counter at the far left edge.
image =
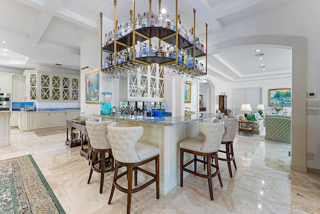
<svg viewBox="0 0 320 214">
<path fill-rule="evenodd" d="M 10 111 L 0 111 L 0 146 L 10 144 Z"/>
</svg>

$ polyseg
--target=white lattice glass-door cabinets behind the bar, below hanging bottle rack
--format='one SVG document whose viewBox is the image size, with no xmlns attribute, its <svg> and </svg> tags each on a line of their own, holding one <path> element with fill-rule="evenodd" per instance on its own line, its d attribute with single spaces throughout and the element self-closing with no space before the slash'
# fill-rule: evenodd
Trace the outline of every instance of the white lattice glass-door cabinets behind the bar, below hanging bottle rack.
<svg viewBox="0 0 320 214">
<path fill-rule="evenodd" d="M 164 69 L 153 63 L 143 65 L 138 75 L 130 75 L 120 79 L 120 101 L 143 100 L 164 101 Z"/>
</svg>

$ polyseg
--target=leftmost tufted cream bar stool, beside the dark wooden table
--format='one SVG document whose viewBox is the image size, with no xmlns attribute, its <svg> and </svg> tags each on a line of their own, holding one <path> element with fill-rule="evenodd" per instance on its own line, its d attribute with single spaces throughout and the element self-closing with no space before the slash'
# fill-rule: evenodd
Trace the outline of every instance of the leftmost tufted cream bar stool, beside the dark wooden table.
<svg viewBox="0 0 320 214">
<path fill-rule="evenodd" d="M 92 163 L 88 183 L 90 183 L 92 171 L 99 172 L 101 174 L 100 193 L 102 193 L 103 189 L 104 173 L 114 170 L 111 145 L 107 139 L 107 125 L 110 122 L 112 121 L 85 121 L 85 127 L 92 147 Z M 105 157 L 105 154 L 107 154 L 107 157 Z"/>
</svg>

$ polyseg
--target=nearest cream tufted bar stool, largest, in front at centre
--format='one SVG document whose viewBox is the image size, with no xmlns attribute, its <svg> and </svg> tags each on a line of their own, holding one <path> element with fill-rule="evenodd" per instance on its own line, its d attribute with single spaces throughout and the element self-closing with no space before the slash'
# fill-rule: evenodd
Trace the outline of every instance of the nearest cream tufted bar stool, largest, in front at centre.
<svg viewBox="0 0 320 214">
<path fill-rule="evenodd" d="M 126 212 L 130 213 L 132 193 L 140 191 L 155 182 L 156 198 L 159 199 L 159 148 L 148 143 L 137 142 L 143 134 L 142 126 L 117 127 L 116 122 L 108 125 L 108 135 L 115 160 L 114 176 L 108 204 L 111 203 L 114 188 L 127 193 Z M 138 166 L 155 161 L 155 173 Z M 126 167 L 126 171 L 118 173 L 118 168 Z M 151 180 L 132 188 L 132 170 L 134 170 L 134 185 L 137 185 L 137 170 L 153 177 Z M 127 174 L 127 188 L 120 186 L 117 179 Z"/>
</svg>

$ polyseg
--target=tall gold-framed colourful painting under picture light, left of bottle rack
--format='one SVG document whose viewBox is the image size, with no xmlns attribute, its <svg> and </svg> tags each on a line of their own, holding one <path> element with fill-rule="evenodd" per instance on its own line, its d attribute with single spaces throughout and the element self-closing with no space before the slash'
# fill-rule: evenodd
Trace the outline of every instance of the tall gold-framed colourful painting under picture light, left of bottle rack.
<svg viewBox="0 0 320 214">
<path fill-rule="evenodd" d="M 99 70 L 84 75 L 85 102 L 99 103 Z"/>
</svg>

